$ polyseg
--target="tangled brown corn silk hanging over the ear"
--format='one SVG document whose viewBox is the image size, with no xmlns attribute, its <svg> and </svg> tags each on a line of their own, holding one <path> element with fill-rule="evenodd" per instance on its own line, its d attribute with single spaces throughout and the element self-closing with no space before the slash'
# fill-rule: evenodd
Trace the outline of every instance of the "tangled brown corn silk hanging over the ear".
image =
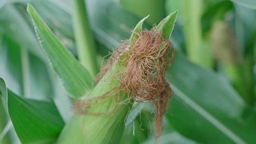
<svg viewBox="0 0 256 144">
<path fill-rule="evenodd" d="M 174 60 L 173 45 L 162 37 L 156 27 L 150 31 L 145 29 L 134 33 L 136 38 L 123 41 L 118 49 L 112 52 L 96 81 L 101 80 L 115 61 L 124 65 L 125 69 L 117 74 L 120 81 L 117 89 L 128 93 L 134 101 L 148 101 L 155 106 L 154 125 L 157 139 L 161 135 L 162 119 L 172 95 L 172 89 L 165 80 L 165 72 Z M 168 55 L 171 58 L 168 58 Z M 107 97 L 108 94 L 104 95 Z M 88 113 L 86 110 L 90 105 L 88 100 L 77 100 L 74 110 L 78 113 Z"/>
</svg>

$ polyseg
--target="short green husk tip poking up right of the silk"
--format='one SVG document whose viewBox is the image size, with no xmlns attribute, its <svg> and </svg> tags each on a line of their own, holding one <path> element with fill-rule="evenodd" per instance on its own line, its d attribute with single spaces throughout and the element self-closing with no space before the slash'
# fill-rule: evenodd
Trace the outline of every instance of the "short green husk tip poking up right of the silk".
<svg viewBox="0 0 256 144">
<path fill-rule="evenodd" d="M 174 13 L 169 14 L 167 17 L 165 17 L 164 20 L 162 20 L 158 25 L 158 30 L 162 32 L 164 38 L 169 39 L 173 28 L 174 23 L 177 20 L 178 11 L 175 11 Z"/>
</svg>

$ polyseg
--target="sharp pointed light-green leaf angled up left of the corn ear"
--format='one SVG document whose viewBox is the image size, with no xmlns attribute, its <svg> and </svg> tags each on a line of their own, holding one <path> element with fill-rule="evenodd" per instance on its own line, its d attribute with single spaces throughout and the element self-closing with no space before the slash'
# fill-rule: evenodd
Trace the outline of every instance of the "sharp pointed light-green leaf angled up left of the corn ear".
<svg viewBox="0 0 256 144">
<path fill-rule="evenodd" d="M 84 96 L 86 91 L 95 85 L 88 70 L 61 44 L 32 5 L 27 5 L 27 11 L 34 23 L 38 40 L 67 93 L 73 98 Z"/>
</svg>

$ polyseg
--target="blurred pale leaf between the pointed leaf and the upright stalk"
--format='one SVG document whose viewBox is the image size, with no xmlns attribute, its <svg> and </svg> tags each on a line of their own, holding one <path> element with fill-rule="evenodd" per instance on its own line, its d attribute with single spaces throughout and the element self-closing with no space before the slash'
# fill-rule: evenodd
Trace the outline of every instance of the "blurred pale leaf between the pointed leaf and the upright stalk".
<svg viewBox="0 0 256 144">
<path fill-rule="evenodd" d="M 37 10 L 37 13 L 42 17 L 42 19 L 47 23 L 47 25 L 53 29 L 54 34 L 59 38 L 69 50 L 75 52 L 74 45 L 74 33 L 71 21 L 71 4 L 68 5 L 68 10 L 65 11 L 63 8 L 66 8 L 65 1 L 33 1 L 28 0 L 28 2 L 34 6 Z M 25 2 L 24 4 L 27 4 Z M 45 9 L 48 10 L 45 10 Z M 54 15 L 53 15 L 54 14 Z M 54 17 L 54 19 L 53 19 Z"/>
</svg>

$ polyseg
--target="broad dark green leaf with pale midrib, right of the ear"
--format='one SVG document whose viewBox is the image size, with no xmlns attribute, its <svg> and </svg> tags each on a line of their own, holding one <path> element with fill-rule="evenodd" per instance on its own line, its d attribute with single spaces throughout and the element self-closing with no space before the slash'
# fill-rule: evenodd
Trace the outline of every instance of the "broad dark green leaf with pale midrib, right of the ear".
<svg viewBox="0 0 256 144">
<path fill-rule="evenodd" d="M 174 92 L 167 117 L 179 133 L 202 143 L 255 141 L 256 113 L 224 79 L 176 55 L 167 81 Z"/>
</svg>

